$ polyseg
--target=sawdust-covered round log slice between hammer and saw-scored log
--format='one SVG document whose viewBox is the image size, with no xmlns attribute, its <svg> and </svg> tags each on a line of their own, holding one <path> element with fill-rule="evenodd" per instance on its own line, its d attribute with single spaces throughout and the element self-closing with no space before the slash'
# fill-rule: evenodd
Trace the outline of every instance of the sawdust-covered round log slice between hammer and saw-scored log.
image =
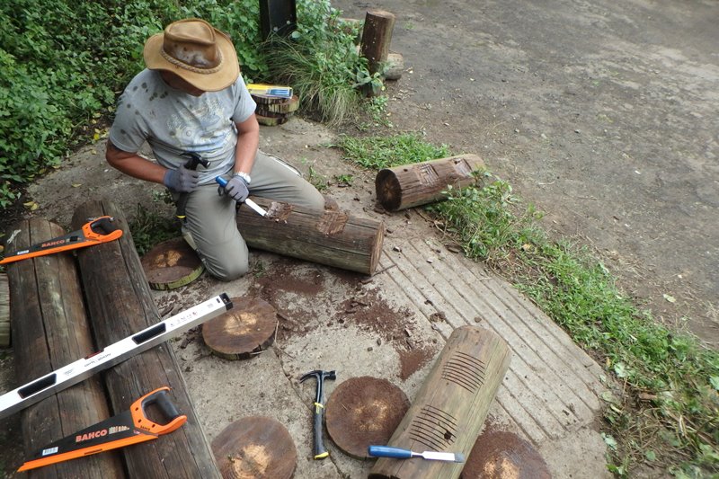
<svg viewBox="0 0 719 479">
<path fill-rule="evenodd" d="M 327 432 L 338 448 L 363 459 L 369 445 L 387 444 L 409 408 L 407 396 L 386 379 L 352 377 L 327 401 Z"/>
</svg>

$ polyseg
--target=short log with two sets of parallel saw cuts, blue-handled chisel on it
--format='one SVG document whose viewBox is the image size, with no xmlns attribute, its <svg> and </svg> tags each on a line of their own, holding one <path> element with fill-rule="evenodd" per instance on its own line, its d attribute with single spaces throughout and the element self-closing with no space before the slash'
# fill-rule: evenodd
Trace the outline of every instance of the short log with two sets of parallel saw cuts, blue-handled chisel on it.
<svg viewBox="0 0 719 479">
<path fill-rule="evenodd" d="M 469 456 L 510 366 L 510 354 L 496 333 L 476 326 L 457 328 L 388 444 Z M 368 479 L 457 479 L 463 466 L 382 457 Z"/>
</svg>

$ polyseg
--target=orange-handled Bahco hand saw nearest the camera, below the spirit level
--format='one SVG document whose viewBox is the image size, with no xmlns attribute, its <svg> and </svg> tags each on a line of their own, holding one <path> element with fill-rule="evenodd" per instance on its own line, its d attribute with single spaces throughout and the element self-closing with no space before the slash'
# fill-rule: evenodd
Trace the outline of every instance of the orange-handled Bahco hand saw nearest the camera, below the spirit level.
<svg viewBox="0 0 719 479">
<path fill-rule="evenodd" d="M 78 430 L 67 438 L 59 439 L 41 448 L 31 460 L 20 466 L 18 472 L 90 456 L 110 449 L 124 448 L 131 444 L 157 439 L 161 434 L 176 430 L 187 421 L 187 416 L 177 412 L 167 394 L 169 390 L 167 386 L 155 389 L 135 401 L 129 411 L 100 421 L 84 430 Z M 146 408 L 153 404 L 164 416 L 163 420 L 166 421 L 164 424 L 158 424 L 147 417 Z"/>
</svg>

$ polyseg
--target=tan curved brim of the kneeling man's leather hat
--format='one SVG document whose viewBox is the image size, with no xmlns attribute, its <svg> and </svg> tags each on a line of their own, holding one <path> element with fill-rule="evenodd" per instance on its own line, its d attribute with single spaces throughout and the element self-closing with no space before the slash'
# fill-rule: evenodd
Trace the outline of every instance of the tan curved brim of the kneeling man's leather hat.
<svg viewBox="0 0 719 479">
<path fill-rule="evenodd" d="M 178 67 L 162 56 L 164 33 L 157 33 L 147 39 L 143 57 L 145 65 L 150 70 L 167 70 L 182 77 L 187 83 L 205 92 L 218 92 L 224 90 L 237 80 L 240 75 L 240 64 L 232 41 L 221 31 L 215 30 L 217 48 L 222 54 L 222 64 L 215 73 L 203 74 Z"/>
</svg>

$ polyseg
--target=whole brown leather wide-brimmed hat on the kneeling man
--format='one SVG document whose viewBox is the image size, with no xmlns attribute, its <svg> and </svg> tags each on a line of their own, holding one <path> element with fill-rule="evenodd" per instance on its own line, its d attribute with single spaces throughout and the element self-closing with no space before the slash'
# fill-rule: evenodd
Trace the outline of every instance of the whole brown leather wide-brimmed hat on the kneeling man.
<svg viewBox="0 0 719 479">
<path fill-rule="evenodd" d="M 170 23 L 147 39 L 144 56 L 147 68 L 172 72 L 206 92 L 224 90 L 240 74 L 229 35 L 198 18 Z"/>
</svg>

